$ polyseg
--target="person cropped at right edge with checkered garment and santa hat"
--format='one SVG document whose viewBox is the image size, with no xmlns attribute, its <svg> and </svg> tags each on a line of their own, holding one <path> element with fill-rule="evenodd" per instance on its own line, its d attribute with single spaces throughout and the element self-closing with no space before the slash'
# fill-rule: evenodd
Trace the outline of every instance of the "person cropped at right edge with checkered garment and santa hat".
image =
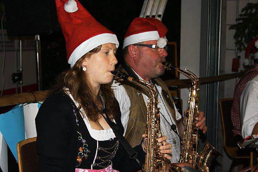
<svg viewBox="0 0 258 172">
<path fill-rule="evenodd" d="M 249 54 L 251 54 L 251 51 L 253 51 L 254 53 L 254 57 L 253 57 L 254 66 L 251 69 L 249 69 L 245 73 L 245 75 L 236 82 L 234 97 L 233 97 L 233 104 L 231 108 L 230 118 L 233 124 L 233 130 L 232 130 L 233 134 L 235 136 L 241 135 L 241 125 L 243 125 L 242 137 L 244 138 L 252 134 L 252 129 L 254 128 L 254 125 L 255 125 L 255 123 L 250 123 L 251 121 L 249 117 L 255 116 L 254 110 L 252 110 L 252 108 L 255 108 L 255 107 L 252 107 L 252 104 L 254 103 L 253 105 L 257 106 L 257 98 L 255 98 L 257 94 L 255 94 L 255 89 L 254 89 L 255 80 L 256 80 L 254 77 L 258 74 L 258 52 L 257 52 L 258 41 L 257 40 L 258 40 L 258 37 L 256 37 L 253 41 L 251 41 L 251 43 L 248 45 L 246 49 L 246 53 L 245 53 L 246 61 L 249 61 L 248 58 L 249 58 Z M 245 124 L 243 122 L 245 122 Z M 249 128 L 248 132 L 247 132 L 247 128 Z M 236 141 L 238 141 L 239 139 L 241 138 L 236 137 Z"/>
</svg>

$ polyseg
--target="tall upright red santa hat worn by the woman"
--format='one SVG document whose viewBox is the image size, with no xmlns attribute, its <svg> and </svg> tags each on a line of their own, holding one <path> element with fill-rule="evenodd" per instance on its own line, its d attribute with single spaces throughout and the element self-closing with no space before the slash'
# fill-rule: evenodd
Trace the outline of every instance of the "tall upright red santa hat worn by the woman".
<svg viewBox="0 0 258 172">
<path fill-rule="evenodd" d="M 55 3 L 71 67 L 99 45 L 114 43 L 118 47 L 116 35 L 97 22 L 78 0 L 55 0 Z"/>
</svg>

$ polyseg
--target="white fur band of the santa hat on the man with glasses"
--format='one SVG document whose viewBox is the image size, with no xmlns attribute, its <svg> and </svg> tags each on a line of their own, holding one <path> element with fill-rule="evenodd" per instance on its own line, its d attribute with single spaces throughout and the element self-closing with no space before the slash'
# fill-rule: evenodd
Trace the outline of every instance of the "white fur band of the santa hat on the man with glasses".
<svg viewBox="0 0 258 172">
<path fill-rule="evenodd" d="M 158 40 L 159 34 L 158 31 L 149 31 L 149 32 L 142 32 L 134 35 L 127 36 L 124 39 L 123 49 L 131 44 L 144 42 L 144 41 L 151 41 L 151 40 Z"/>
</svg>

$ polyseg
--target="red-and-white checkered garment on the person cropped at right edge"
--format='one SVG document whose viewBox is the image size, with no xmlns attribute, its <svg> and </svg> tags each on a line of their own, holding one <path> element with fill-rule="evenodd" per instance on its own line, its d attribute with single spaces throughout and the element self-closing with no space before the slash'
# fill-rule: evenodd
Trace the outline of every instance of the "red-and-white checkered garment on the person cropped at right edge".
<svg viewBox="0 0 258 172">
<path fill-rule="evenodd" d="M 240 119 L 240 96 L 245 88 L 245 84 L 252 79 L 255 75 L 258 74 L 258 64 L 254 64 L 254 66 L 249 69 L 243 77 L 237 80 L 234 91 L 233 104 L 231 108 L 231 121 L 233 124 L 233 134 L 241 135 L 241 119 Z"/>
</svg>

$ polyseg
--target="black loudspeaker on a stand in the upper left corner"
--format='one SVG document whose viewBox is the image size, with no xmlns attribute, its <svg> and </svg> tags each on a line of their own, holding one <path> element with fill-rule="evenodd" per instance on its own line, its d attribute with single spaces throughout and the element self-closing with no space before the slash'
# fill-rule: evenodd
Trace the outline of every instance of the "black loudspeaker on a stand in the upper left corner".
<svg viewBox="0 0 258 172">
<path fill-rule="evenodd" d="M 60 32 L 54 0 L 5 0 L 8 36 Z"/>
</svg>

